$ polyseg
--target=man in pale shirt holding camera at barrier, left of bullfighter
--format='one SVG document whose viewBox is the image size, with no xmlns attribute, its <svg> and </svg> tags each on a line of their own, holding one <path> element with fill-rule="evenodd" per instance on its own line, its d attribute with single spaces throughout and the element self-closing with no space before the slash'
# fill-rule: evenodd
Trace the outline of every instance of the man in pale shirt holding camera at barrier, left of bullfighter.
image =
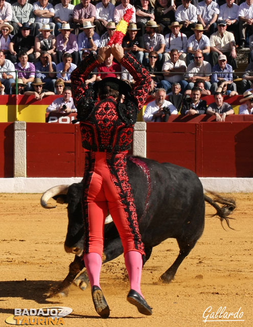
<svg viewBox="0 0 253 327">
<path fill-rule="evenodd" d="M 72 91 L 70 86 L 65 86 L 63 89 L 63 97 L 55 99 L 51 105 L 48 106 L 47 112 L 60 113 L 75 113 L 77 109 L 72 98 Z"/>
</svg>

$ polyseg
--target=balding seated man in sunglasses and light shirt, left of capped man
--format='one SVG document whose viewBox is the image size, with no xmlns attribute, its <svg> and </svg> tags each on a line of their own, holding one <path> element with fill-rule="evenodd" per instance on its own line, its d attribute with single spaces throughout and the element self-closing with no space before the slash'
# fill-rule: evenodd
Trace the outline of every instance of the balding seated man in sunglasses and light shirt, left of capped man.
<svg viewBox="0 0 253 327">
<path fill-rule="evenodd" d="M 204 82 L 205 89 L 210 90 L 211 72 L 211 64 L 207 61 L 204 61 L 204 57 L 201 52 L 195 52 L 194 62 L 190 63 L 186 70 L 186 78 L 189 83 L 187 89 L 192 89 L 196 80 L 202 80 Z"/>
</svg>

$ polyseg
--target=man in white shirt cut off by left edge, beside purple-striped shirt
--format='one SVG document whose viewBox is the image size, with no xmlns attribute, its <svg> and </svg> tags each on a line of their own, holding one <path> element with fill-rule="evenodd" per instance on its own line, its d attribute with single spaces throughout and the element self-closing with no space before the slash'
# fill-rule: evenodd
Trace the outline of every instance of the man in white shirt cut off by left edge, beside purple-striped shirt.
<svg viewBox="0 0 253 327">
<path fill-rule="evenodd" d="M 11 84 L 15 82 L 13 78 L 15 75 L 14 71 L 14 64 L 10 60 L 5 59 L 3 50 L 0 50 L 0 81 L 5 86 L 6 94 L 11 94 Z"/>
</svg>

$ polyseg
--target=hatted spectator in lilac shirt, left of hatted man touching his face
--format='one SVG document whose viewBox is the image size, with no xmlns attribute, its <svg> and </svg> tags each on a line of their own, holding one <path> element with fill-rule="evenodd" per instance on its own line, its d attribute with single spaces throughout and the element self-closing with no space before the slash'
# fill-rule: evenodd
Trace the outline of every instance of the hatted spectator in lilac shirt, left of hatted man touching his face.
<svg viewBox="0 0 253 327">
<path fill-rule="evenodd" d="M 56 53 L 57 61 L 61 61 L 61 57 L 64 53 L 70 53 L 75 64 L 78 63 L 78 45 L 77 45 L 77 36 L 71 31 L 70 24 L 62 24 L 61 32 L 56 36 Z"/>
</svg>

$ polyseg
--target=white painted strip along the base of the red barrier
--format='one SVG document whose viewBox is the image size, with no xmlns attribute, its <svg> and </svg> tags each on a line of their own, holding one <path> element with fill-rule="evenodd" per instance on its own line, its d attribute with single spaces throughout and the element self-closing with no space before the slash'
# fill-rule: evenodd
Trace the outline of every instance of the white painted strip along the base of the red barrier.
<svg viewBox="0 0 253 327">
<path fill-rule="evenodd" d="M 0 193 L 43 193 L 59 184 L 78 183 L 81 177 L 70 178 L 0 178 Z M 253 193 L 253 178 L 200 178 L 205 192 Z"/>
</svg>

